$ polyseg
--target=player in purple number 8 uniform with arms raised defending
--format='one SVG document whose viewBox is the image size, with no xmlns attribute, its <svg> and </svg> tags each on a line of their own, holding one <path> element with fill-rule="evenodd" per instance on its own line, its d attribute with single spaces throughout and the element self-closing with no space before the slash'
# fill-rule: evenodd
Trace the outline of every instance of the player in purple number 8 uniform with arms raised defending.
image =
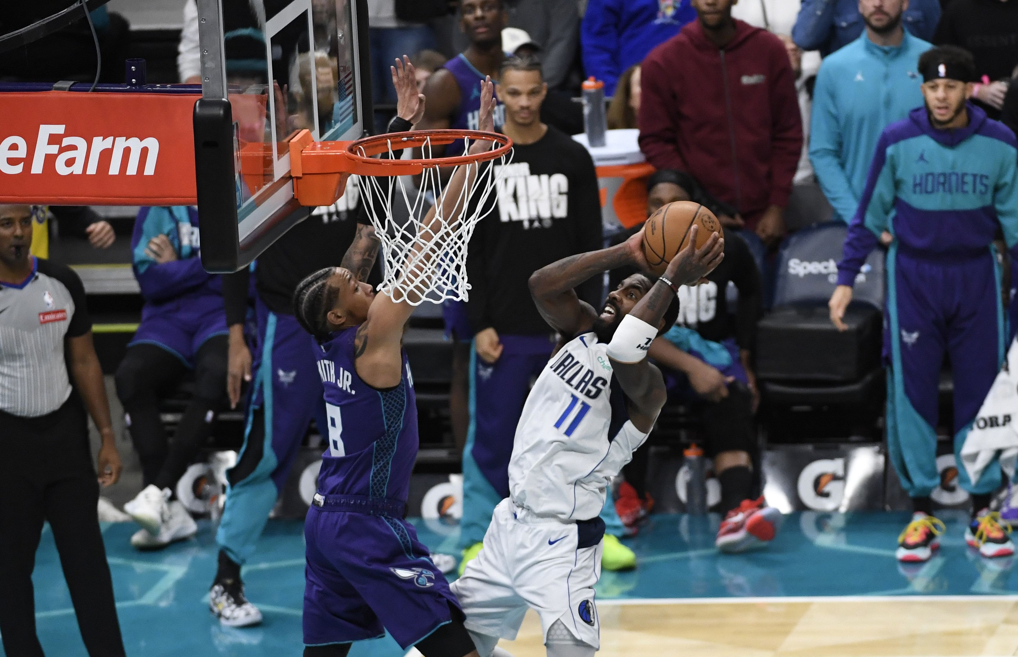
<svg viewBox="0 0 1018 657">
<path fill-rule="evenodd" d="M 413 84 L 412 68 L 406 73 Z M 493 94 L 494 85 L 485 80 L 478 123 L 487 131 L 495 129 Z M 470 152 L 486 148 L 479 142 Z M 442 216 L 462 209 L 456 206 L 469 170 L 462 167 L 450 179 L 438 201 Z M 425 226 L 435 217 L 432 208 Z M 409 300 L 419 300 L 410 294 Z M 351 642 L 385 629 L 404 650 L 416 646 L 425 657 L 475 656 L 449 584 L 403 519 L 418 444 L 402 345 L 414 307 L 376 295 L 342 267 L 301 281 L 293 306 L 321 348 L 329 434 L 304 526 L 304 656 L 345 657 Z"/>
</svg>

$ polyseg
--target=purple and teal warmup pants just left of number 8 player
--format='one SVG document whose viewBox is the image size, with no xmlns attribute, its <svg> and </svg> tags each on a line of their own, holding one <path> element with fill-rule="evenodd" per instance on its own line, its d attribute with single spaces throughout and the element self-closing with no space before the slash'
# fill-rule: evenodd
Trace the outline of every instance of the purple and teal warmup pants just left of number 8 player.
<svg viewBox="0 0 1018 657">
<path fill-rule="evenodd" d="M 257 304 L 254 354 L 247 427 L 237 464 L 229 473 L 226 506 L 216 543 L 237 563 L 254 546 L 313 417 L 325 427 L 325 401 L 314 338 L 290 315 Z"/>
</svg>

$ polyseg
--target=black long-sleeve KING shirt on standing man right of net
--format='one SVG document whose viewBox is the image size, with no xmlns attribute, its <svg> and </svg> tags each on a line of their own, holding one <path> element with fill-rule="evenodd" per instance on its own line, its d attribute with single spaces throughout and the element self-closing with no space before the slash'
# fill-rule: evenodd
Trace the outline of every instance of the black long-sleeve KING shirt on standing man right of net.
<svg viewBox="0 0 1018 657">
<path fill-rule="evenodd" d="M 598 176 L 586 149 L 553 126 L 533 144 L 513 149 L 512 164 L 492 197 L 494 208 L 470 238 L 467 314 L 474 331 L 548 334 L 552 329 L 527 281 L 542 267 L 603 247 Z M 602 277 L 577 293 L 597 307 Z"/>
</svg>

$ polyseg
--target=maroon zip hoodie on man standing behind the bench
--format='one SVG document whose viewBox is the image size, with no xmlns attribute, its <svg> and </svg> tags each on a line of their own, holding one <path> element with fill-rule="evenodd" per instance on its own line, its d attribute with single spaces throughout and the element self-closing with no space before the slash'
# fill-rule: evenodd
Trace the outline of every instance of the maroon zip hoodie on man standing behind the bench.
<svg viewBox="0 0 1018 657">
<path fill-rule="evenodd" d="M 802 117 L 785 45 L 735 21 L 723 49 L 698 20 L 643 60 L 639 146 L 659 169 L 695 177 L 753 228 L 784 208 L 802 152 Z"/>
</svg>

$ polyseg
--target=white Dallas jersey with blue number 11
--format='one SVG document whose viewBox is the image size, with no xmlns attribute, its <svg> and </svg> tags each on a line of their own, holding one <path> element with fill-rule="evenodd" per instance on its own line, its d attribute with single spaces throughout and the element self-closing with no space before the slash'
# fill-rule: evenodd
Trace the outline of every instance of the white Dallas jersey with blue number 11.
<svg viewBox="0 0 1018 657">
<path fill-rule="evenodd" d="M 538 377 L 516 426 L 509 495 L 538 515 L 597 517 L 606 488 L 646 434 L 629 422 L 608 344 L 584 333 Z"/>
</svg>

